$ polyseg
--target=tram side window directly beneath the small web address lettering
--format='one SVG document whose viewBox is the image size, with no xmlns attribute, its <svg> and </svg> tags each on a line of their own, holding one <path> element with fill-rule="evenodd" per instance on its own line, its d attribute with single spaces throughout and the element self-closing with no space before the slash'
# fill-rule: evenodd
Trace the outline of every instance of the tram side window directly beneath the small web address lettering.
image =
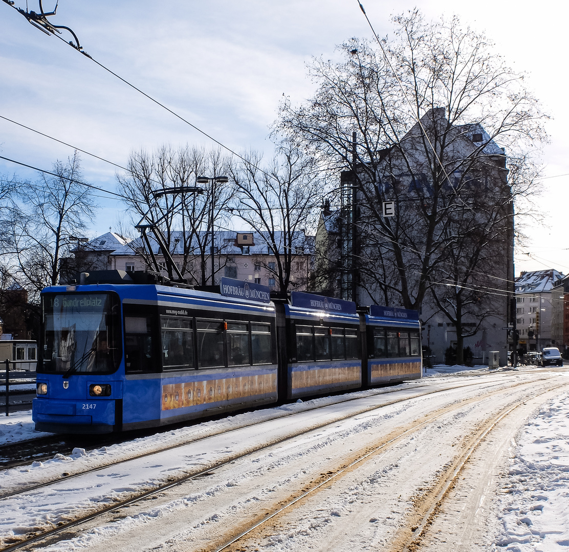
<svg viewBox="0 0 569 552">
<path fill-rule="evenodd" d="M 160 325 L 162 326 L 162 366 L 166 370 L 194 368 L 191 319 L 162 316 Z"/>
</svg>

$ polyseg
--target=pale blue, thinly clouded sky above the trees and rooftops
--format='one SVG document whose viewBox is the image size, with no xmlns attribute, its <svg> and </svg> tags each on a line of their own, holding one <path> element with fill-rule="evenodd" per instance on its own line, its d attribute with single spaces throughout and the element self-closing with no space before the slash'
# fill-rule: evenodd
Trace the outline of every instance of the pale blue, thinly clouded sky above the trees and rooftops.
<svg viewBox="0 0 569 552">
<path fill-rule="evenodd" d="M 459 16 L 496 44 L 551 115 L 543 147 L 542 194 L 535 218 L 517 221 L 526 235 L 516 250 L 516 273 L 555 268 L 569 273 L 564 204 L 569 183 L 566 77 L 559 70 L 566 49 L 567 3 L 506 0 L 500 3 L 364 0 L 378 35 L 393 31 L 391 16 L 415 6 L 428 19 Z M 23 0 L 15 6 L 26 7 Z M 53 2 L 44 0 L 44 10 Z M 39 11 L 36 0 L 30 10 Z M 307 77 L 313 57 L 333 59 L 337 44 L 371 39 L 357 0 L 209 2 L 60 0 L 53 23 L 71 27 L 94 59 L 141 88 L 230 149 L 253 148 L 270 157 L 270 125 L 283 95 L 298 104 L 310 98 Z M 70 40 L 71 35 L 64 33 Z M 162 107 L 119 81 L 53 36 L 47 36 L 0 2 L 0 116 L 34 128 L 73 147 L 124 166 L 131 151 L 162 144 L 212 147 L 213 142 Z M 0 119 L 0 156 L 50 169 L 73 148 Z M 81 154 L 84 178 L 114 190 L 112 164 Z M 0 159 L 0 175 L 19 179 L 37 173 Z M 88 237 L 116 227 L 124 206 L 100 194 L 101 209 Z"/>
</svg>

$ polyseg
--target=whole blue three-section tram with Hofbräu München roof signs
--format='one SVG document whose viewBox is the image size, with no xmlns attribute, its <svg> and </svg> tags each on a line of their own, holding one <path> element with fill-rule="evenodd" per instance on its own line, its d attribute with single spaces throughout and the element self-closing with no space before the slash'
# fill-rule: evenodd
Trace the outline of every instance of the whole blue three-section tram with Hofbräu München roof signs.
<svg viewBox="0 0 569 552">
<path fill-rule="evenodd" d="M 162 426 L 420 377 L 417 313 L 357 313 L 300 292 L 271 300 L 227 278 L 220 293 L 147 278 L 104 271 L 44 289 L 36 429 Z"/>
</svg>

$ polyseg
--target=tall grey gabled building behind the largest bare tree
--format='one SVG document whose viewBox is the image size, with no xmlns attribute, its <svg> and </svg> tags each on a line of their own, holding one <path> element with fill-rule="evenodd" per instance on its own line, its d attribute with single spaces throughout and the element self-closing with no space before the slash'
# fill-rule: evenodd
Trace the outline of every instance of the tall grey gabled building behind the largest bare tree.
<svg viewBox="0 0 569 552">
<path fill-rule="evenodd" d="M 469 347 L 475 363 L 499 351 L 506 364 L 514 219 L 504 149 L 481 124 L 453 124 L 440 107 L 367 155 L 341 173 L 340 209 L 321 214 L 317 289 L 419 309 L 433 362 Z"/>
</svg>

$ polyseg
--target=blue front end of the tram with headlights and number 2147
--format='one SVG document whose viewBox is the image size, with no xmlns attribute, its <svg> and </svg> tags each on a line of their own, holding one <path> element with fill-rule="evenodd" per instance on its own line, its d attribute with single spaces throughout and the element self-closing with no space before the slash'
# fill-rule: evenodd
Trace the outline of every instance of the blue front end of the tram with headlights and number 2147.
<svg viewBox="0 0 569 552">
<path fill-rule="evenodd" d="M 100 288 L 68 292 L 60 287 L 42 292 L 36 398 L 32 403 L 36 430 L 109 433 L 120 429 L 121 327 L 115 292 L 101 292 Z"/>
</svg>

